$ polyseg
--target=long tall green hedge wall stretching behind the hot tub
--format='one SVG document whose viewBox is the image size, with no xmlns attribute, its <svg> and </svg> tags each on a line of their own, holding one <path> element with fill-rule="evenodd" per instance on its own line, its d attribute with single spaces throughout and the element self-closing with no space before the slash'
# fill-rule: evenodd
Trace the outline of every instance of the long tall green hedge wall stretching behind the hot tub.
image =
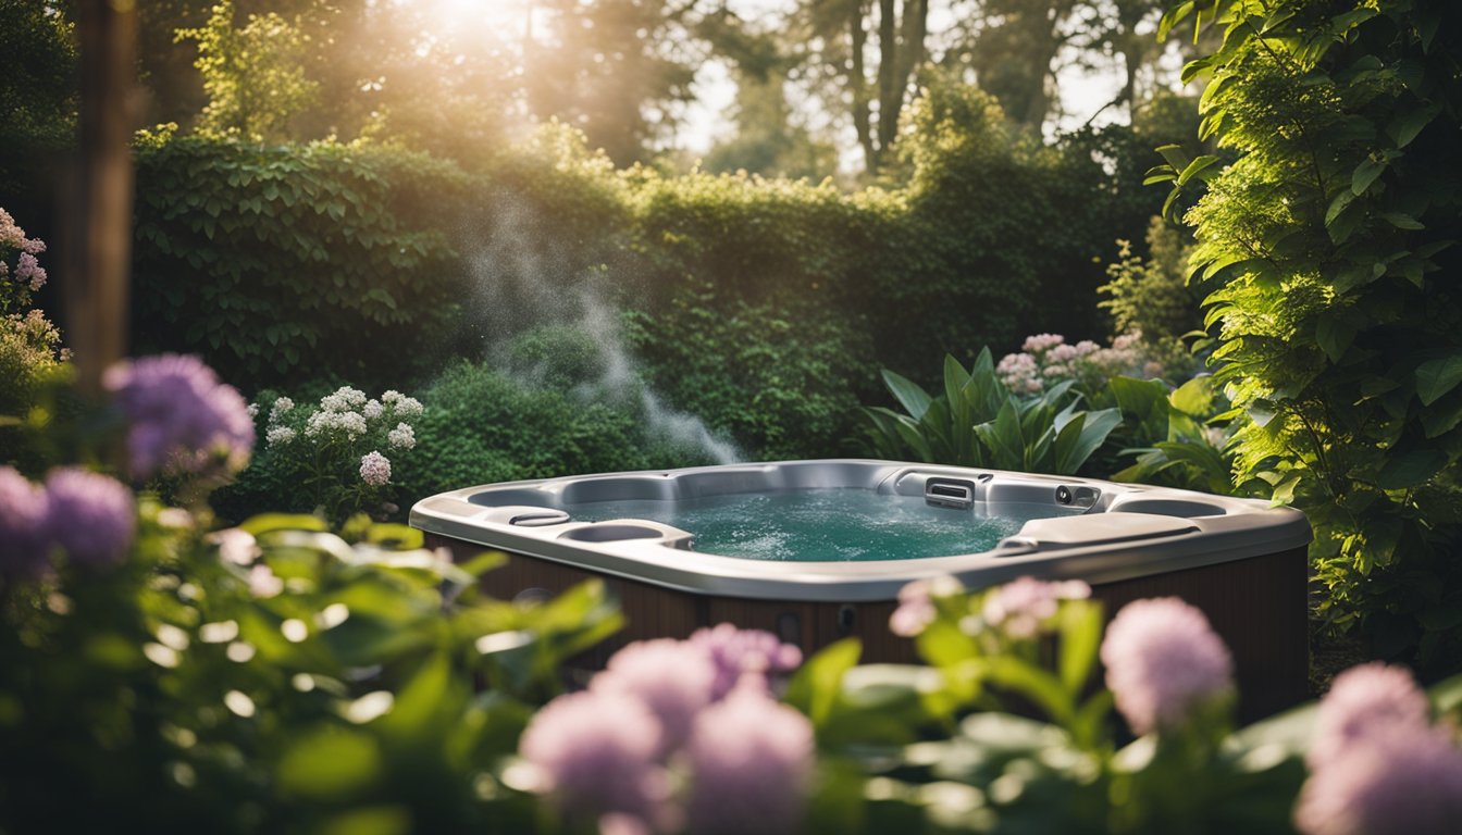
<svg viewBox="0 0 1462 835">
<path fill-rule="evenodd" d="M 558 124 L 472 175 L 370 145 L 154 136 L 139 348 L 200 351 L 246 389 L 411 388 L 592 298 L 626 311 L 640 377 L 746 455 L 857 452 L 879 367 L 924 380 L 947 352 L 1105 335 L 1102 265 L 1162 197 L 1101 164 L 1111 136 L 1012 137 L 968 86 L 931 83 L 909 129 L 902 183 L 855 193 L 620 171 Z"/>
</svg>

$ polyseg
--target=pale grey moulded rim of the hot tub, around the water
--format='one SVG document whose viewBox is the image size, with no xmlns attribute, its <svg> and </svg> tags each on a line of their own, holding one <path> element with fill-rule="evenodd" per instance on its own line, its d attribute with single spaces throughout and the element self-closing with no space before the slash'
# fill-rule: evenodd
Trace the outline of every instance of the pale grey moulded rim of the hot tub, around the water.
<svg viewBox="0 0 1462 835">
<path fill-rule="evenodd" d="M 576 488 L 656 491 L 664 497 L 813 487 L 921 494 L 930 478 L 968 480 L 980 484 L 981 494 L 993 502 L 1061 485 L 1095 488 L 1099 500 L 1091 512 L 1026 522 L 990 551 L 871 562 L 792 563 L 708 554 L 690 550 L 690 534 L 646 519 L 510 524 L 528 512 L 563 505 L 561 497 Z M 485 503 L 494 497 L 503 503 Z M 535 502 L 520 503 L 522 499 Z M 1311 538 L 1303 513 L 1263 500 L 1092 478 L 851 458 L 484 484 L 423 499 L 411 509 L 411 525 L 484 550 L 526 554 L 692 594 L 841 602 L 893 600 L 905 583 L 942 575 L 972 588 L 1022 575 L 1117 582 L 1291 551 Z M 620 529 L 605 535 L 589 531 L 607 525 Z"/>
</svg>

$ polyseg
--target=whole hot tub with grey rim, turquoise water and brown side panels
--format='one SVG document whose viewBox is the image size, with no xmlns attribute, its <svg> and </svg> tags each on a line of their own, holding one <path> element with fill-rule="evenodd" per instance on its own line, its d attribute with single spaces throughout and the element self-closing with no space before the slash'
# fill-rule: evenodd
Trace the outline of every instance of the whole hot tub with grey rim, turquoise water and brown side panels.
<svg viewBox="0 0 1462 835">
<path fill-rule="evenodd" d="M 509 554 L 504 598 L 589 578 L 618 595 L 618 642 L 731 621 L 804 652 L 848 635 L 866 662 L 914 661 L 892 635 L 898 591 L 952 575 L 1082 579 L 1105 601 L 1177 595 L 1234 652 L 1241 712 L 1306 695 L 1304 516 L 1265 502 L 1088 478 L 886 461 L 794 461 L 577 475 L 424 499 L 411 525 L 459 559 Z"/>
</svg>

